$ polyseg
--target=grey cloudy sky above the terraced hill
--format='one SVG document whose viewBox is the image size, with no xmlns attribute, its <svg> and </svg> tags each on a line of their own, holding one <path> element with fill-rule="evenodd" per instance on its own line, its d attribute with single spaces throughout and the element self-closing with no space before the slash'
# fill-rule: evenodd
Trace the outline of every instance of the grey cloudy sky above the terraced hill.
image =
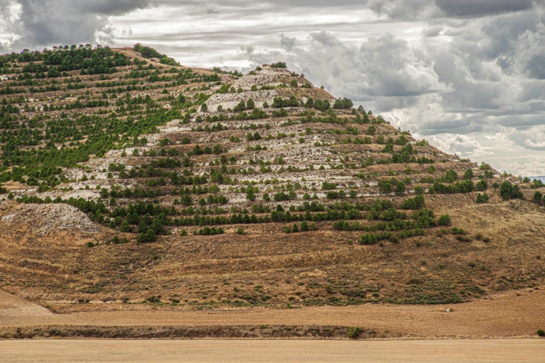
<svg viewBox="0 0 545 363">
<path fill-rule="evenodd" d="M 0 53 L 97 42 L 285 61 L 446 152 L 545 175 L 545 0 L 0 0 Z"/>
</svg>

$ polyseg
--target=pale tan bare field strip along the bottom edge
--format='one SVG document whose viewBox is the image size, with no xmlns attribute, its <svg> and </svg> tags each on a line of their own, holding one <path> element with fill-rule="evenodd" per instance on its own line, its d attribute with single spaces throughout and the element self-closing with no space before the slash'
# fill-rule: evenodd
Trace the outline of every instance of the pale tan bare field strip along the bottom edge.
<svg viewBox="0 0 545 363">
<path fill-rule="evenodd" d="M 0 341 L 3 362 L 543 362 L 538 339 Z"/>
</svg>

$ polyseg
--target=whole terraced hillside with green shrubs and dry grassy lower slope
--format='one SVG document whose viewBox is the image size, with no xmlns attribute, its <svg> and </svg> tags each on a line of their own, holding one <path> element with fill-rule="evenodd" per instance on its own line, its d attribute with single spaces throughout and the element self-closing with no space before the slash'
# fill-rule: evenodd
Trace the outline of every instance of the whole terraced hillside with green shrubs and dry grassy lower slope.
<svg viewBox="0 0 545 363">
<path fill-rule="evenodd" d="M 544 285 L 539 181 L 283 63 L 0 56 L 0 289 L 54 312 L 451 304 Z"/>
</svg>

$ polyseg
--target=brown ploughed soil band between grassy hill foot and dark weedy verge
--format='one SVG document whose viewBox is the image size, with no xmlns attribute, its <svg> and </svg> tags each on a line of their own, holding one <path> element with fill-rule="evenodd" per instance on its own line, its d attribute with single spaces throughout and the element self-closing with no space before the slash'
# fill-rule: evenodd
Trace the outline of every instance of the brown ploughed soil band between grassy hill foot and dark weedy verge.
<svg viewBox="0 0 545 363">
<path fill-rule="evenodd" d="M 445 312 L 449 308 L 450 312 Z M 52 314 L 0 291 L 0 328 L 43 325 L 343 325 L 418 337 L 523 337 L 545 329 L 545 289 L 459 305 L 359 305 L 221 311 L 133 310 Z"/>
</svg>

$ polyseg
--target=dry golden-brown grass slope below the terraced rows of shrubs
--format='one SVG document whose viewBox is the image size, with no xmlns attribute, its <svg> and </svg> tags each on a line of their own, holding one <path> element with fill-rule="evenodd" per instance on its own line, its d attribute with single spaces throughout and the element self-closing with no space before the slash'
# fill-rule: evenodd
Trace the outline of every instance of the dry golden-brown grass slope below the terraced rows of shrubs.
<svg viewBox="0 0 545 363">
<path fill-rule="evenodd" d="M 449 213 L 471 241 L 429 230 L 398 244 L 348 245 L 361 233 L 332 232 L 321 223 L 322 230 L 305 234 L 281 234 L 282 225 L 267 233 L 242 225 L 252 232 L 86 248 L 84 234 L 46 241 L 29 233 L 17 239 L 8 230 L 1 236 L 0 284 L 58 311 L 110 306 L 74 305 L 78 299 L 140 302 L 157 295 L 166 305 L 139 307 L 335 305 L 356 291 L 363 291 L 362 301 L 456 302 L 544 284 L 544 261 L 536 258 L 545 255 L 542 210 L 528 202 L 469 200 L 435 195 L 427 204 L 437 215 Z M 475 234 L 482 238 L 471 238 Z M 173 298 L 180 303 L 172 305 Z"/>
</svg>

